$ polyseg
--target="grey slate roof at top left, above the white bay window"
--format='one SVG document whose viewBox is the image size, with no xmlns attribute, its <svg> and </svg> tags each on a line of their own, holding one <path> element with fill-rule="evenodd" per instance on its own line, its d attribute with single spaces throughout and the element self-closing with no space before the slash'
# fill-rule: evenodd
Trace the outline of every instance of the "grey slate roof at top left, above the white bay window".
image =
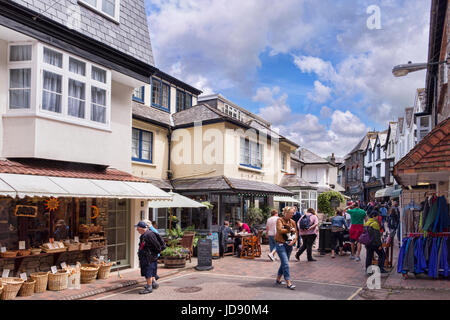
<svg viewBox="0 0 450 320">
<path fill-rule="evenodd" d="M 78 0 L 12 0 L 38 14 L 154 66 L 144 0 L 121 0 L 119 23 Z M 132 36 L 130 36 L 132 35 Z"/>
</svg>

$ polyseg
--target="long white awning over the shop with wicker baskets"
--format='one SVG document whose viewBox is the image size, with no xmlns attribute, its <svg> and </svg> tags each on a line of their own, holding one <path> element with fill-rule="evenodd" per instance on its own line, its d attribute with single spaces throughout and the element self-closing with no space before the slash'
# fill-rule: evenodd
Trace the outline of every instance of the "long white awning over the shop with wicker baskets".
<svg viewBox="0 0 450 320">
<path fill-rule="evenodd" d="M 163 190 L 145 182 L 63 178 L 0 173 L 0 194 L 10 197 L 76 197 L 170 200 Z"/>
</svg>

